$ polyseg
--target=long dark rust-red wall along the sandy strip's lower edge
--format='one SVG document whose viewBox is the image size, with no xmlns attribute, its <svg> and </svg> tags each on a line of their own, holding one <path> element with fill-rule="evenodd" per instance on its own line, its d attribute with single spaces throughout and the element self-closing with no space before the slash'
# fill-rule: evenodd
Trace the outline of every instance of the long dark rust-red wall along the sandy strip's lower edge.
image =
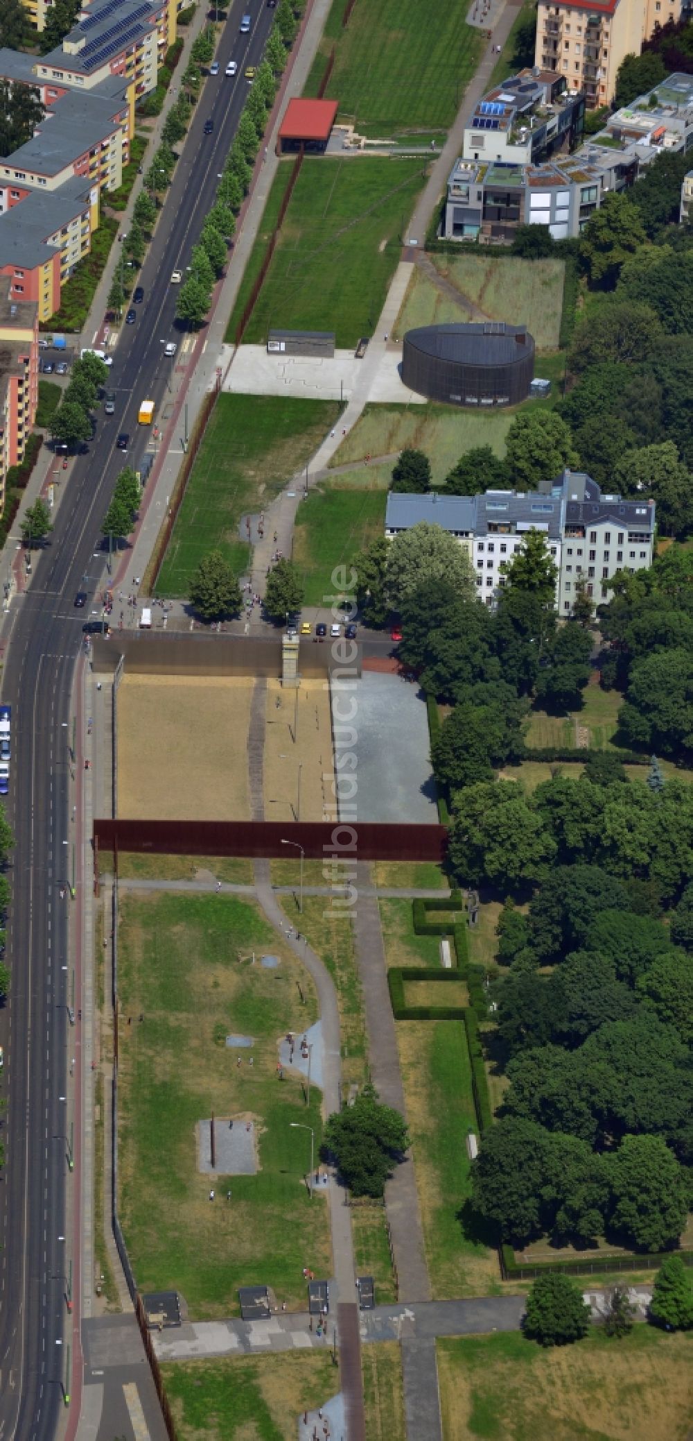
<svg viewBox="0 0 693 1441">
<path fill-rule="evenodd" d="M 353 860 L 445 859 L 445 826 L 349 826 L 324 821 L 95 820 L 94 844 L 104 850 L 151 852 L 160 856 L 284 856 L 282 840 L 297 842 L 307 856 L 337 853 Z"/>
</svg>

